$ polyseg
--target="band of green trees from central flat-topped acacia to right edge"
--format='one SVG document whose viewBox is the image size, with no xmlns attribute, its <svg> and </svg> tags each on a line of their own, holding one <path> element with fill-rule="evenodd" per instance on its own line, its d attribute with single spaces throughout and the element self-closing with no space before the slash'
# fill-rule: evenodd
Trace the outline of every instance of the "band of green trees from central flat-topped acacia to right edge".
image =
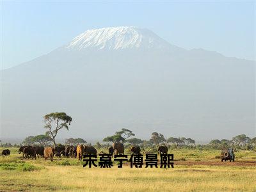
<svg viewBox="0 0 256 192">
<path fill-rule="evenodd" d="M 232 138 L 232 140 L 211 140 L 205 145 L 196 145 L 195 140 L 191 138 L 164 138 L 163 134 L 152 132 L 149 140 L 140 140 L 138 138 L 131 138 L 134 136 L 132 131 L 122 129 L 117 131 L 113 136 L 104 138 L 103 141 L 123 142 L 131 145 L 139 145 L 144 148 L 155 147 L 159 145 L 166 145 L 168 148 L 193 148 L 198 150 L 211 150 L 221 148 L 234 148 L 235 150 L 255 150 L 256 151 L 256 137 L 249 138 L 245 134 L 239 134 Z"/>
</svg>

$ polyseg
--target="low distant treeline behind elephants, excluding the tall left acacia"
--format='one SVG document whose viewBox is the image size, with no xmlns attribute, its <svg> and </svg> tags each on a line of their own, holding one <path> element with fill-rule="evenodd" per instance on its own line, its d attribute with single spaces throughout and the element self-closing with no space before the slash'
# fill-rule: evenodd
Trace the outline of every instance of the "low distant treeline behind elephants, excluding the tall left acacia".
<svg viewBox="0 0 256 192">
<path fill-rule="evenodd" d="M 234 148 L 234 150 L 255 150 L 256 151 L 256 137 L 249 138 L 245 134 L 240 134 L 232 138 L 232 140 L 211 140 L 207 144 L 196 144 L 195 140 L 191 138 L 164 138 L 163 134 L 158 132 L 152 132 L 149 140 L 141 140 L 140 138 L 134 138 L 135 134 L 129 129 L 122 129 L 121 131 L 116 131 L 112 136 L 104 138 L 103 143 L 97 141 L 93 145 L 95 148 L 108 148 L 111 143 L 120 142 L 124 143 L 125 147 L 140 146 L 141 148 L 156 148 L 159 145 L 166 145 L 170 149 L 175 148 L 190 148 L 197 150 L 212 150 L 221 148 Z M 77 145 L 86 143 L 86 145 L 91 145 L 87 143 L 86 140 L 82 138 L 67 138 L 65 139 L 65 145 Z M 28 136 L 19 145 L 11 143 L 1 143 L 1 147 L 19 147 L 20 145 L 42 145 L 44 147 L 52 145 L 52 139 L 50 136 L 38 135 L 38 136 Z"/>
</svg>

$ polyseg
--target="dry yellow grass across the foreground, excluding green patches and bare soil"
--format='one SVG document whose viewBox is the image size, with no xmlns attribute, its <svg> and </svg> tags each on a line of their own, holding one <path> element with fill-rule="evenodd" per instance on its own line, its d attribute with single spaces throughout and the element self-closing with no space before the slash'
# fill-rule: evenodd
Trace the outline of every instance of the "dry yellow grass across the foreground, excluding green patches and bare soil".
<svg viewBox="0 0 256 192">
<path fill-rule="evenodd" d="M 19 163 L 19 158 L 20 154 L 0 157 L 0 163 Z M 77 159 L 58 161 L 72 164 Z M 32 172 L 0 170 L 0 191 L 256 191 L 255 166 L 83 168 L 82 164 L 59 165 L 58 161 L 27 160 L 40 168 Z"/>
</svg>

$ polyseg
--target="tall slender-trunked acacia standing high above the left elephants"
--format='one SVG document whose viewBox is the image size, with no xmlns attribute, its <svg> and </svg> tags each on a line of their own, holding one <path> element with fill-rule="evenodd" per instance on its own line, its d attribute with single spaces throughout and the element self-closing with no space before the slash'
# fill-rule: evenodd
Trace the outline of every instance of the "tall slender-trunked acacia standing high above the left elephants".
<svg viewBox="0 0 256 192">
<path fill-rule="evenodd" d="M 56 147 L 55 138 L 63 127 L 68 130 L 68 125 L 72 122 L 71 116 L 68 116 L 66 113 L 49 113 L 44 116 L 45 129 L 47 129 L 47 134 L 51 136 L 52 141 L 54 143 L 54 147 Z"/>
</svg>

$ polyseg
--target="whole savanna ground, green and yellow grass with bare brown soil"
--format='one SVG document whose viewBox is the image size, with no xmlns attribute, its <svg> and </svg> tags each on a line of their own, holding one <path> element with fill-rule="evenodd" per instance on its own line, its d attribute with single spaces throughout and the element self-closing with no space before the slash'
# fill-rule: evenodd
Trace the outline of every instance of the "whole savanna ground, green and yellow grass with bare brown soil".
<svg viewBox="0 0 256 192">
<path fill-rule="evenodd" d="M 23 160 L 10 150 L 0 157 L 0 191 L 256 191 L 253 151 L 221 163 L 220 150 L 176 149 L 175 168 L 83 168 L 77 159 Z"/>
</svg>

